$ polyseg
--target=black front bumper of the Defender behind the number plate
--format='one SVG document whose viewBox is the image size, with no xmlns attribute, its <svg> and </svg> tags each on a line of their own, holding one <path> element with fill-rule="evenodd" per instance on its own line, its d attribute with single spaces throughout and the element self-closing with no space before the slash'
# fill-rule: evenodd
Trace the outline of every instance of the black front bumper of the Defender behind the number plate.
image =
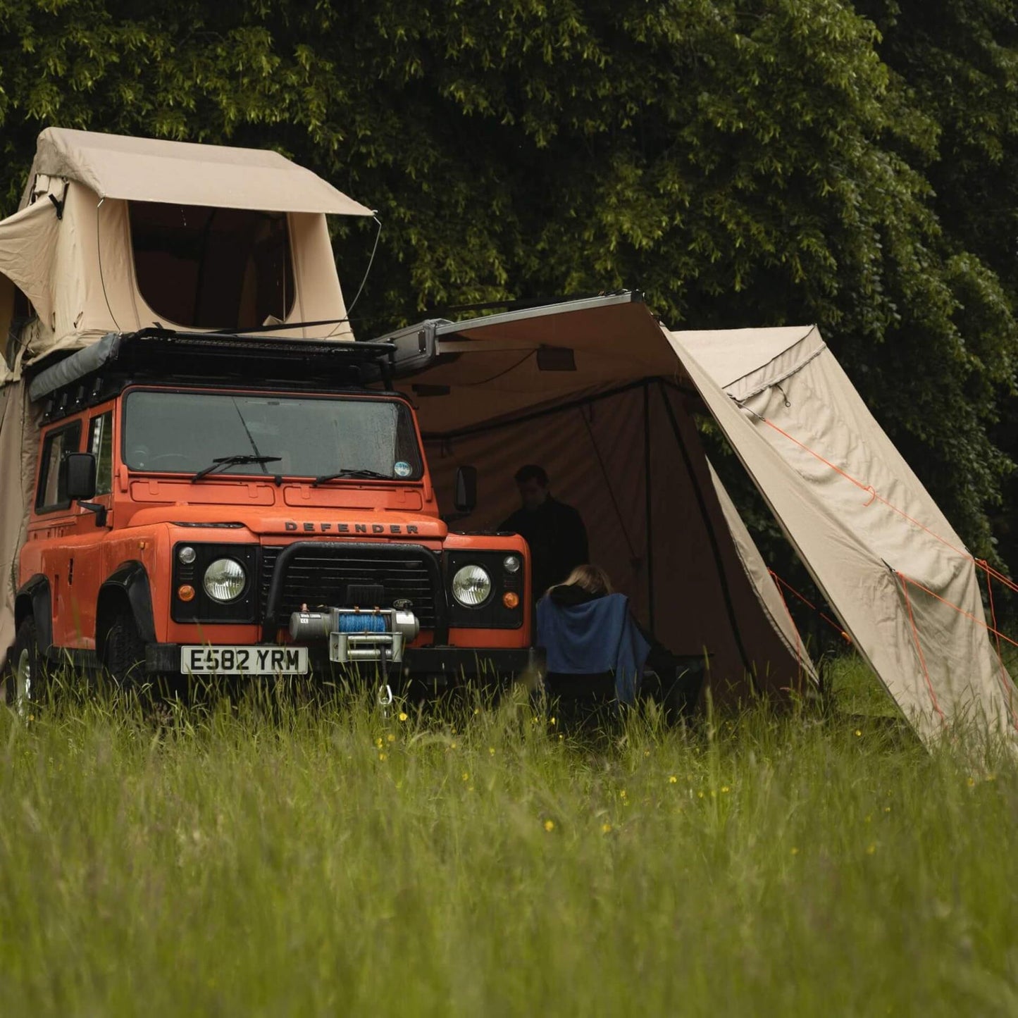
<svg viewBox="0 0 1018 1018">
<path fill-rule="evenodd" d="M 150 643 L 146 647 L 147 673 L 180 673 L 181 643 Z M 308 659 L 312 672 L 329 675 L 337 667 L 329 661 L 327 644 L 309 644 Z M 541 664 L 535 647 L 461 647 L 461 646 L 411 646 L 403 654 L 403 661 L 390 665 L 406 679 L 444 676 L 448 681 L 495 679 L 499 676 L 522 675 Z M 351 666 L 352 667 L 352 666 Z M 375 665 L 369 666 L 374 672 Z"/>
</svg>

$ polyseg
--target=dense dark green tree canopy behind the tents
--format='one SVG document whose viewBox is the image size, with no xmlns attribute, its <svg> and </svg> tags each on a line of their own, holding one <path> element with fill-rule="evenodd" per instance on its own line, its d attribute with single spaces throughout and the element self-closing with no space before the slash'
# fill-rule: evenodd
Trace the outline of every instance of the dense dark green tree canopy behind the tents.
<svg viewBox="0 0 1018 1018">
<path fill-rule="evenodd" d="M 271 146 L 380 211 L 361 335 L 619 286 L 673 327 L 817 322 L 987 553 L 1016 88 L 1010 0 L 0 0 L 0 193 L 49 124 Z M 349 290 L 371 236 L 337 230 Z"/>
</svg>

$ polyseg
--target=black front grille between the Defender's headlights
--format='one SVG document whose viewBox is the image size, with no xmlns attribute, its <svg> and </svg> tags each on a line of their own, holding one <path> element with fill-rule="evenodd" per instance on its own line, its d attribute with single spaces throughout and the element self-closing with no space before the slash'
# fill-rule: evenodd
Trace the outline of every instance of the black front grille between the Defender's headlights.
<svg viewBox="0 0 1018 1018">
<path fill-rule="evenodd" d="M 269 587 L 281 546 L 262 549 L 261 604 L 265 618 L 269 603 Z M 405 600 L 412 604 L 413 613 L 420 620 L 422 629 L 436 627 L 436 591 L 432 574 L 435 565 L 429 563 L 432 552 L 421 548 L 394 549 L 379 545 L 376 548 L 348 548 L 337 543 L 322 542 L 305 547 L 289 558 L 282 592 L 275 617 L 281 625 L 289 622 L 292 612 L 301 605 L 317 609 L 352 608 L 346 604 L 347 588 L 381 585 L 385 590 L 380 605 L 359 606 L 392 608 L 394 601 Z M 431 568 L 430 568 L 431 566 Z"/>
</svg>

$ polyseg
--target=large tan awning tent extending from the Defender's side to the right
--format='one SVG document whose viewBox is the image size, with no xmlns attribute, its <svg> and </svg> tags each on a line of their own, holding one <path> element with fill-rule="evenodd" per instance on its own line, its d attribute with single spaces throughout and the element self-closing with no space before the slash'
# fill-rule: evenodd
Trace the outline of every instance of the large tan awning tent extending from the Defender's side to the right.
<svg viewBox="0 0 1018 1018">
<path fill-rule="evenodd" d="M 721 427 L 917 733 L 934 742 L 974 722 L 1015 738 L 1018 696 L 991 643 L 979 564 L 815 327 L 671 332 L 620 293 L 399 335 L 415 332 L 435 358 L 400 385 L 439 490 L 458 464 L 480 470 L 467 524 L 508 515 L 513 471 L 541 461 L 643 620 L 676 652 L 714 652 L 716 693 L 780 696 L 812 671 L 694 412 Z"/>
</svg>

